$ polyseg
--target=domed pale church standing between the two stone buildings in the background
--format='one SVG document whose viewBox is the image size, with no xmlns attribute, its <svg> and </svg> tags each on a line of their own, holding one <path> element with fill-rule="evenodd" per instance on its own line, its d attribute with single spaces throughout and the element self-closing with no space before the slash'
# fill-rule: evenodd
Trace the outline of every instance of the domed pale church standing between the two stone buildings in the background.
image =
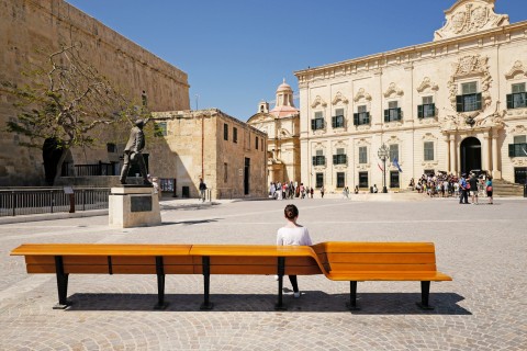
<svg viewBox="0 0 527 351">
<path fill-rule="evenodd" d="M 294 106 L 293 90 L 285 83 L 277 89 L 274 107 L 260 102 L 258 113 L 247 123 L 268 135 L 267 171 L 269 181 L 300 183 L 300 111 Z"/>
</svg>

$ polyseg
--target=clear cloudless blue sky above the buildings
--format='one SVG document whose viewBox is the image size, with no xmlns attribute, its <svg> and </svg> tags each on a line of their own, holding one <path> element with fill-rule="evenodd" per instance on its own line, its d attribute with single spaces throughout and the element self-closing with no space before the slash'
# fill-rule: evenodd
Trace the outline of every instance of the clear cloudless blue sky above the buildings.
<svg viewBox="0 0 527 351">
<path fill-rule="evenodd" d="M 293 71 L 431 42 L 455 0 L 67 0 L 189 75 L 190 105 L 247 121 Z M 496 0 L 511 23 L 526 0 Z M 197 95 L 199 98 L 197 99 Z M 198 100 L 198 101 L 197 101 Z M 296 107 L 298 101 L 295 101 Z M 272 104 L 271 104 L 272 107 Z"/>
</svg>

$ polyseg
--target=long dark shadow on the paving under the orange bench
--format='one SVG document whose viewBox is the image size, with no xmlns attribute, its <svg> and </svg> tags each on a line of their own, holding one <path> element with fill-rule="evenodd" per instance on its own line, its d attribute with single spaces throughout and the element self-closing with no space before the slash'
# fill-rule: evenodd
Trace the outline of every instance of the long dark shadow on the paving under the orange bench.
<svg viewBox="0 0 527 351">
<path fill-rule="evenodd" d="M 168 306 L 164 312 L 198 312 L 203 295 L 167 294 Z M 74 294 L 68 298 L 72 305 L 69 312 L 81 310 L 154 310 L 157 294 Z M 278 296 L 273 294 L 216 294 L 211 295 L 214 312 L 273 312 Z M 414 293 L 363 293 L 358 294 L 360 310 L 354 315 L 472 315 L 458 305 L 464 298 L 455 293 L 435 293 L 430 296 L 433 310 L 416 306 L 421 294 Z M 287 312 L 337 313 L 347 312 L 348 294 L 326 294 L 319 291 L 302 292 L 300 298 L 283 295 Z"/>
</svg>

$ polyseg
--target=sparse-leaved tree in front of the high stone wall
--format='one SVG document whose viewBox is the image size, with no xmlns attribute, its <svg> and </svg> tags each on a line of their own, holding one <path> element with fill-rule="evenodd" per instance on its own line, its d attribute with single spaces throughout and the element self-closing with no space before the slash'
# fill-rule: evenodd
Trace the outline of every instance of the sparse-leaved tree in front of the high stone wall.
<svg viewBox="0 0 527 351">
<path fill-rule="evenodd" d="M 60 174 L 67 151 L 92 147 L 108 127 L 123 127 L 130 116 L 146 111 L 133 106 L 131 99 L 88 61 L 82 59 L 82 44 L 61 46 L 43 56 L 38 65 L 24 72 L 29 83 L 2 82 L 15 97 L 16 118 L 7 123 L 7 131 L 26 138 L 22 146 L 54 154 L 54 169 L 46 170 L 51 184 Z M 49 177 L 48 172 L 53 173 Z"/>
</svg>

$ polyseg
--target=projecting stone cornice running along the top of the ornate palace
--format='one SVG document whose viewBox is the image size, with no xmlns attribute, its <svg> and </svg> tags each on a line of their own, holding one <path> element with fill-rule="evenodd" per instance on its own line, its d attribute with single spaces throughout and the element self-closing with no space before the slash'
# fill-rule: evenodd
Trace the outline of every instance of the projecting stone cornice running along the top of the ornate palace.
<svg viewBox="0 0 527 351">
<path fill-rule="evenodd" d="M 492 29 L 483 32 L 471 33 L 461 35 L 458 37 L 446 38 L 437 42 L 428 42 L 425 44 L 407 46 L 390 52 L 384 52 L 380 54 L 373 54 L 369 56 L 362 56 L 354 59 L 348 59 L 335 64 L 324 65 L 319 67 L 303 69 L 294 71 L 293 73 L 299 79 L 299 83 L 313 80 L 315 76 L 322 76 L 324 79 L 327 79 L 327 76 L 330 76 L 332 71 L 344 70 L 346 75 L 356 73 L 359 69 L 358 67 L 363 67 L 360 71 L 372 71 L 374 69 L 379 70 L 382 67 L 389 67 L 392 65 L 401 65 L 403 63 L 418 61 L 421 59 L 426 59 L 428 57 L 422 57 L 423 53 L 431 53 L 431 57 L 437 55 L 444 55 L 444 49 L 447 49 L 447 54 L 456 52 L 461 53 L 466 49 L 459 49 L 459 44 L 467 42 L 479 42 L 483 38 L 493 38 L 491 45 L 498 45 L 503 42 L 509 42 L 511 38 L 507 36 L 511 32 L 524 31 L 524 38 L 527 38 L 527 21 L 522 21 L 513 24 L 508 24 L 502 27 Z M 497 39 L 497 36 L 503 36 L 501 41 Z M 485 43 L 487 45 L 487 43 Z M 455 46 L 456 48 L 450 48 Z M 470 48 L 471 49 L 471 48 Z M 469 49 L 467 49 L 469 50 Z M 390 63 L 388 63 L 390 60 Z M 392 63 L 393 60 L 393 63 Z M 333 78 L 333 77 L 329 77 Z"/>
</svg>

